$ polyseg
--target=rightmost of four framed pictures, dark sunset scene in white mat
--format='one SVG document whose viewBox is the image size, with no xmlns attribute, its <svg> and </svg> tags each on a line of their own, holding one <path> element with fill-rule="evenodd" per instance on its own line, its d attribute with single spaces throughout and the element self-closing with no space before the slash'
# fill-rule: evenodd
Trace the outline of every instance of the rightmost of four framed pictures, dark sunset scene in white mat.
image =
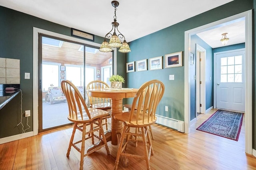
<svg viewBox="0 0 256 170">
<path fill-rule="evenodd" d="M 165 68 L 182 66 L 182 51 L 165 55 Z"/>
</svg>

